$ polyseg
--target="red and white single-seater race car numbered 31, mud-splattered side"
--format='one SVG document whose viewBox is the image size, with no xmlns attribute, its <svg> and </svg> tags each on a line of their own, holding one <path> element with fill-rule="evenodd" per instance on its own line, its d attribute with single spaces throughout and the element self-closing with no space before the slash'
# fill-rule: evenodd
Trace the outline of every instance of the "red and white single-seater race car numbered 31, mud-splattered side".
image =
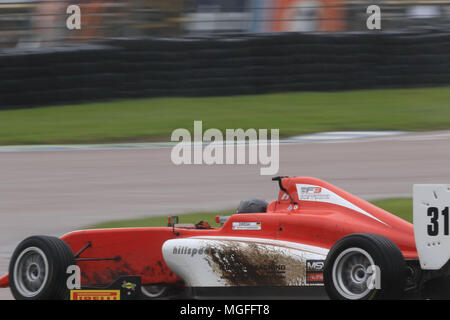
<svg viewBox="0 0 450 320">
<path fill-rule="evenodd" d="M 77 266 L 81 289 L 123 280 L 147 299 L 450 298 L 449 185 L 414 186 L 412 225 L 319 179 L 273 180 L 276 201 L 242 201 L 217 217 L 220 228 L 172 217 L 168 227 L 29 237 L 0 287 L 16 299 L 67 299 Z"/>
</svg>

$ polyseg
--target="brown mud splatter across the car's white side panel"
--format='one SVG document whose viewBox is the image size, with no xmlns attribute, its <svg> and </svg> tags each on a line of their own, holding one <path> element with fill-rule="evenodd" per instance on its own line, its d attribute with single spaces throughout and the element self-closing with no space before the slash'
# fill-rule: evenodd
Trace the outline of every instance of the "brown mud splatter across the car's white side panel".
<svg viewBox="0 0 450 320">
<path fill-rule="evenodd" d="M 209 245 L 205 259 L 229 286 L 302 286 L 305 259 L 275 246 L 221 242 Z"/>
</svg>

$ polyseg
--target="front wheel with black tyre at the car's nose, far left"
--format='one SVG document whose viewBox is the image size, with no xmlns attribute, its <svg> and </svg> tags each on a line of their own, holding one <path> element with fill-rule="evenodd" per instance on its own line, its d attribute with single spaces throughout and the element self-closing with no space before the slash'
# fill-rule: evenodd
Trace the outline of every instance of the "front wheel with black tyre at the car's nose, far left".
<svg viewBox="0 0 450 320">
<path fill-rule="evenodd" d="M 69 298 L 67 268 L 74 254 L 63 240 L 31 236 L 14 251 L 9 264 L 11 292 L 17 300 L 63 300 Z"/>
</svg>

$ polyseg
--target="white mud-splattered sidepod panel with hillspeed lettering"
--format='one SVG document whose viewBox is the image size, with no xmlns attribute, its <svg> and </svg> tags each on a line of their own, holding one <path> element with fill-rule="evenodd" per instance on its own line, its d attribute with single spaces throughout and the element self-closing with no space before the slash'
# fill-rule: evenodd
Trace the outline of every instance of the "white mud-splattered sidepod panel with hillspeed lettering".
<svg viewBox="0 0 450 320">
<path fill-rule="evenodd" d="M 321 285 L 327 249 L 246 237 L 194 237 L 164 243 L 166 264 L 187 286 Z"/>
</svg>

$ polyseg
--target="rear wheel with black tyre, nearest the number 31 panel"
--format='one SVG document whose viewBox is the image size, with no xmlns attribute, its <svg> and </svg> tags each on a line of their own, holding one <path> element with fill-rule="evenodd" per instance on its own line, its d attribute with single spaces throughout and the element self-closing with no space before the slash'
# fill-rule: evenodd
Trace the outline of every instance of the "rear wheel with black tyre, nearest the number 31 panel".
<svg viewBox="0 0 450 320">
<path fill-rule="evenodd" d="M 379 270 L 378 285 L 370 288 L 369 266 Z M 335 300 L 400 299 L 405 289 L 406 265 L 397 245 L 377 234 L 348 235 L 328 252 L 324 267 L 325 290 Z"/>
</svg>

